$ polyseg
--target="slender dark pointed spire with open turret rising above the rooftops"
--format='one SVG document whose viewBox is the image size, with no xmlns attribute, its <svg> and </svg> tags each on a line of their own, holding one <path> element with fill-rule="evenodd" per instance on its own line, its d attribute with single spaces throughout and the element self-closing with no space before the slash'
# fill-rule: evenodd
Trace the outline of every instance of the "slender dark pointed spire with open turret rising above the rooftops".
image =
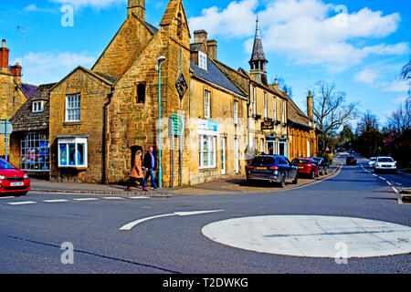
<svg viewBox="0 0 411 292">
<path fill-rule="evenodd" d="M 253 53 L 251 55 L 249 65 L 251 67 L 251 75 L 264 84 L 268 84 L 266 72 L 267 63 L 269 63 L 269 61 L 266 59 L 264 54 L 264 48 L 262 46 L 262 40 L 259 32 L 259 20 L 257 16 L 256 37 L 254 39 Z"/>
</svg>

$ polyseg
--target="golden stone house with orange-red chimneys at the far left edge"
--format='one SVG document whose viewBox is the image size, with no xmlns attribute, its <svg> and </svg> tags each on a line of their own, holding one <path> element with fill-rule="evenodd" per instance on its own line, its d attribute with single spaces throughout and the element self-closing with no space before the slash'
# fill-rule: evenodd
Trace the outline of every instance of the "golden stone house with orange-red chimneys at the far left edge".
<svg viewBox="0 0 411 292">
<path fill-rule="evenodd" d="M 0 119 L 10 120 L 18 109 L 30 99 L 37 87 L 21 82 L 21 66 L 9 66 L 10 49 L 5 39 L 0 47 Z M 0 136 L 0 156 L 5 155 L 4 136 Z M 9 144 L 7 145 L 10 146 Z"/>
</svg>

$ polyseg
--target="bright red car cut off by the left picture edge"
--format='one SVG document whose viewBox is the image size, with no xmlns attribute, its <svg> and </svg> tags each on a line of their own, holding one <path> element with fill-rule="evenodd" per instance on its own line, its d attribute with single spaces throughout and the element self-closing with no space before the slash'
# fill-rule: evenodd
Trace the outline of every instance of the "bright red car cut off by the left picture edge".
<svg viewBox="0 0 411 292">
<path fill-rule="evenodd" d="M 5 193 L 26 195 L 28 191 L 30 191 L 28 175 L 11 163 L 0 159 L 0 195 Z"/>
</svg>

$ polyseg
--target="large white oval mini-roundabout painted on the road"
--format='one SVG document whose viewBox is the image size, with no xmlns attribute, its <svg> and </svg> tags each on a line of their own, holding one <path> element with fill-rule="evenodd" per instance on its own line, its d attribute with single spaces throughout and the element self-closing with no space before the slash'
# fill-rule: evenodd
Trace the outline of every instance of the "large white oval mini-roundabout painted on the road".
<svg viewBox="0 0 411 292">
<path fill-rule="evenodd" d="M 411 228 L 361 218 L 271 215 L 233 218 L 206 225 L 207 238 L 232 247 L 274 255 L 345 258 L 411 252 Z"/>
</svg>

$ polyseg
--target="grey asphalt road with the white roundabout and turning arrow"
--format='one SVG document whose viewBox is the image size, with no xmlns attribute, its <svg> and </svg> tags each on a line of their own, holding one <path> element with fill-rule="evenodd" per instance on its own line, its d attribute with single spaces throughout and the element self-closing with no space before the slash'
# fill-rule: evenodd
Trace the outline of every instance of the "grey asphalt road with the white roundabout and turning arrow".
<svg viewBox="0 0 411 292">
<path fill-rule="evenodd" d="M 386 183 L 409 176 L 361 163 L 285 192 L 1 197 L 0 273 L 409 274 L 411 205 Z"/>
</svg>

